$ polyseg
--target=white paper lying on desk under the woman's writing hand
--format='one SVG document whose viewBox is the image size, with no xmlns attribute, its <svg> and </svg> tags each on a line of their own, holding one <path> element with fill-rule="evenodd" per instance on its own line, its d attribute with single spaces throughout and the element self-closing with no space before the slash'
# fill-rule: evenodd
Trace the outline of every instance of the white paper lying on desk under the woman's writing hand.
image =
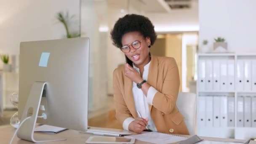
<svg viewBox="0 0 256 144">
<path fill-rule="evenodd" d="M 133 137 L 140 141 L 146 141 L 146 142 L 155 143 L 155 144 L 169 144 L 169 143 L 188 139 L 187 137 L 183 137 L 183 136 L 175 136 L 175 135 L 157 133 L 157 132 L 143 133 L 139 135 L 132 135 L 129 137 Z"/>
</svg>

